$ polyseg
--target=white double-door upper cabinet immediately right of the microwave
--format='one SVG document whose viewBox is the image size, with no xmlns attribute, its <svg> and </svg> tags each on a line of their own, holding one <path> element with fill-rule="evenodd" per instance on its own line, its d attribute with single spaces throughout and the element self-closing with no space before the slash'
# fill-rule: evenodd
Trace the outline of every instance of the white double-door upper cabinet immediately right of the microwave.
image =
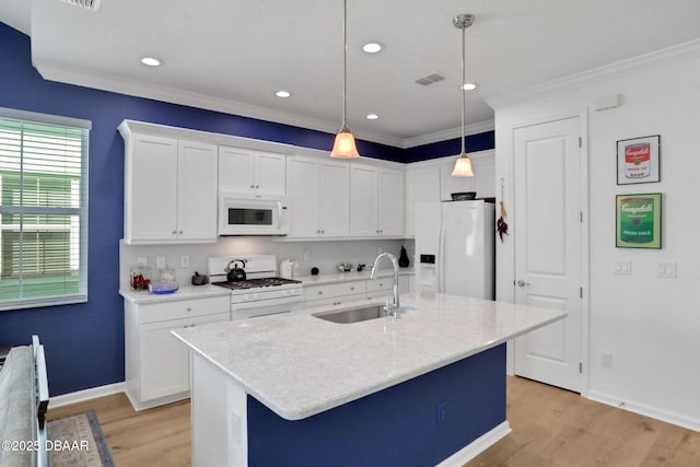
<svg viewBox="0 0 700 467">
<path fill-rule="evenodd" d="M 347 237 L 350 233 L 350 166 L 290 156 L 287 162 L 290 234 L 295 238 Z"/>
</svg>

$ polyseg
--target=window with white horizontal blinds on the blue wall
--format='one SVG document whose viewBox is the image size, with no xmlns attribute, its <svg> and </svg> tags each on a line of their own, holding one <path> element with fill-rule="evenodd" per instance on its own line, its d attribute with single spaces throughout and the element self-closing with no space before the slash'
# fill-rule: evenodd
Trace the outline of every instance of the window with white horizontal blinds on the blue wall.
<svg viewBox="0 0 700 467">
<path fill-rule="evenodd" d="M 89 130 L 0 108 L 0 310 L 88 300 Z"/>
</svg>

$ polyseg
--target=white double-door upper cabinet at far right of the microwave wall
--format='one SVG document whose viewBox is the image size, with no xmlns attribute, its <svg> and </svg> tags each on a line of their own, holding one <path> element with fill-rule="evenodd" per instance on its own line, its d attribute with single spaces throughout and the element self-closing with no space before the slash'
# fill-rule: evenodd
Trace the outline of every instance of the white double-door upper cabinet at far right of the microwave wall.
<svg viewBox="0 0 700 467">
<path fill-rule="evenodd" d="M 402 235 L 404 172 L 351 164 L 350 236 Z"/>
</svg>

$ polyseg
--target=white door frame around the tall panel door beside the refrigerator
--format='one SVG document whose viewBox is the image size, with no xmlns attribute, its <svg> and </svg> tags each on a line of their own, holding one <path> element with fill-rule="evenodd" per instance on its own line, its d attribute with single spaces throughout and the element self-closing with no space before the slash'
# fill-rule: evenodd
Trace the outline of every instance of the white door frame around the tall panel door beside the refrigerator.
<svg viewBox="0 0 700 467">
<path fill-rule="evenodd" d="M 569 108 L 563 109 L 560 113 L 548 114 L 541 117 L 535 117 L 533 119 L 528 119 L 525 121 L 521 121 L 517 124 L 511 124 L 508 128 L 508 145 L 506 153 L 503 154 L 502 157 L 498 155 L 498 147 L 497 147 L 497 197 L 500 194 L 501 187 L 501 178 L 504 179 L 504 190 L 503 190 L 503 201 L 506 206 L 508 218 L 506 222 L 509 224 L 509 234 L 510 236 L 517 235 L 517 225 L 514 221 L 514 215 L 511 212 L 515 206 L 514 199 L 514 189 L 513 186 L 517 184 L 517 180 L 514 179 L 515 173 L 515 141 L 514 133 L 515 130 L 530 127 L 534 125 L 548 124 L 565 118 L 579 118 L 580 125 L 580 135 L 581 135 L 581 160 L 580 160 L 580 186 L 581 186 L 581 212 L 583 213 L 583 220 L 581 223 L 581 287 L 583 288 L 583 293 L 581 297 L 581 363 L 582 363 L 582 376 L 581 376 L 581 385 L 580 394 L 583 397 L 587 397 L 588 394 L 588 366 L 591 364 L 591 359 L 588 355 L 588 335 L 590 335 L 590 194 L 588 194 L 588 109 L 584 108 Z M 499 159 L 503 162 L 503 166 L 499 167 Z M 499 170 L 500 168 L 500 170 Z M 511 180 L 509 183 L 509 180 Z M 509 187 L 510 185 L 510 187 Z M 509 189 L 510 188 L 510 189 Z M 495 217 L 500 217 L 500 210 L 497 206 Z M 498 285 L 504 287 L 505 278 L 508 277 L 509 290 L 504 291 L 497 290 L 497 300 L 505 300 L 510 302 L 515 302 L 515 245 L 513 238 L 505 237 L 506 241 L 501 244 L 501 248 L 497 249 L 497 255 L 504 254 L 505 259 L 498 261 L 499 266 L 502 269 L 505 269 L 503 275 L 499 275 L 500 280 L 497 282 Z M 510 242 L 509 242 L 510 241 Z M 497 244 L 500 244 L 500 241 L 497 241 Z M 509 247 L 503 247 L 505 243 L 510 243 Z M 503 266 L 505 266 L 503 268 Z M 497 266 L 497 275 L 499 268 Z M 498 287 L 497 285 L 497 287 Z M 513 341 L 508 342 L 508 361 L 506 361 L 506 373 L 509 375 L 515 374 L 515 346 Z"/>
</svg>

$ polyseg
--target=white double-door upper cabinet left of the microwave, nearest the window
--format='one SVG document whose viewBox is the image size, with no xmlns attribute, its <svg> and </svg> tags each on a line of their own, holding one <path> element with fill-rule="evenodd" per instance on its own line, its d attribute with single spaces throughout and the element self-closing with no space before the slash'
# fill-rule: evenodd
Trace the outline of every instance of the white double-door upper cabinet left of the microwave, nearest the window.
<svg viewBox="0 0 700 467">
<path fill-rule="evenodd" d="M 124 241 L 127 244 L 217 240 L 217 147 L 122 132 Z"/>
</svg>

